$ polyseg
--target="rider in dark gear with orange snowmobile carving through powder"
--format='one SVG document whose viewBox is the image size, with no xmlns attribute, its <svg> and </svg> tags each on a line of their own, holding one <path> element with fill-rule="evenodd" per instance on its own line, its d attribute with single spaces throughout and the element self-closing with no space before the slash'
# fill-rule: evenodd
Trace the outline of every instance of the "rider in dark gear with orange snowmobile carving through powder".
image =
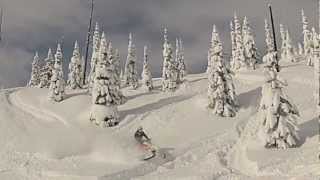
<svg viewBox="0 0 320 180">
<path fill-rule="evenodd" d="M 137 129 L 134 138 L 139 143 L 141 149 L 146 152 L 142 157 L 143 160 L 149 160 L 156 156 L 157 148 L 151 143 L 151 139 L 146 135 L 142 127 Z"/>
</svg>

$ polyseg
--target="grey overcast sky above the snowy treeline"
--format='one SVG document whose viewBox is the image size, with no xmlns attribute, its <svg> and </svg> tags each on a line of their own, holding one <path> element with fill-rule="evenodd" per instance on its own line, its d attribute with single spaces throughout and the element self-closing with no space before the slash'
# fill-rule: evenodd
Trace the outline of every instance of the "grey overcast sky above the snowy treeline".
<svg viewBox="0 0 320 180">
<path fill-rule="evenodd" d="M 274 0 L 276 28 L 283 23 L 295 43 L 301 41 L 300 9 L 304 8 L 311 26 L 317 25 L 317 0 Z M 89 0 L 0 0 L 4 8 L 3 38 L 0 45 L 0 84 L 24 86 L 30 76 L 34 51 L 44 58 L 49 47 L 62 42 L 65 64 L 70 61 L 73 43 L 84 49 L 89 21 Z M 122 62 L 127 53 L 128 33 L 134 34 L 139 72 L 143 46 L 150 46 L 154 76 L 160 75 L 163 26 L 172 43 L 181 36 L 189 73 L 205 70 L 212 24 L 220 32 L 225 53 L 229 53 L 229 23 L 234 11 L 247 16 L 264 53 L 266 0 L 95 0 L 94 21 L 120 49 Z M 67 73 L 65 73 L 67 74 Z"/>
</svg>

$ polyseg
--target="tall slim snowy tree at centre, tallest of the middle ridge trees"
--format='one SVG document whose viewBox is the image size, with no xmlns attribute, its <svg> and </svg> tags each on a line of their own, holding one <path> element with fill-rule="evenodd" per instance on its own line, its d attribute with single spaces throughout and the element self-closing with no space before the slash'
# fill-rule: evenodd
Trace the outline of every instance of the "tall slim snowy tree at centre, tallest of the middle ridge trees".
<svg viewBox="0 0 320 180">
<path fill-rule="evenodd" d="M 177 64 L 173 59 L 172 45 L 168 40 L 167 28 L 164 29 L 162 90 L 174 91 L 177 88 Z"/>
</svg>

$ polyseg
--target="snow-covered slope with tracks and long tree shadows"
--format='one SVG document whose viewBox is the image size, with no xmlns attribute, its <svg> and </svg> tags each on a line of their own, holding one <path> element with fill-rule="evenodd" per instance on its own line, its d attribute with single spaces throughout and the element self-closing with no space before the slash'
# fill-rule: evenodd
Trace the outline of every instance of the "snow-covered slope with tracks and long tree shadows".
<svg viewBox="0 0 320 180">
<path fill-rule="evenodd" d="M 47 89 L 16 88 L 0 93 L 1 180 L 315 180 L 320 177 L 313 69 L 283 66 L 289 97 L 301 112 L 301 145 L 265 149 L 257 138 L 262 68 L 237 74 L 241 108 L 235 118 L 207 109 L 206 74 L 189 75 L 175 93 L 123 89 L 121 122 L 99 128 L 89 122 L 90 97 L 68 91 L 61 103 Z M 133 133 L 142 125 L 159 156 L 141 161 Z M 166 158 L 163 158 L 166 155 Z"/>
</svg>

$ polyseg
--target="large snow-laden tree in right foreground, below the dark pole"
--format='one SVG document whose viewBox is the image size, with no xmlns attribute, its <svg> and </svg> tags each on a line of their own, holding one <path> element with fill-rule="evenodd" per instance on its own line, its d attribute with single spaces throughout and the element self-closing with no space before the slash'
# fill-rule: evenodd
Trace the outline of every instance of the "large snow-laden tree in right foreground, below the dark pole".
<svg viewBox="0 0 320 180">
<path fill-rule="evenodd" d="M 299 141 L 298 109 L 283 91 L 287 82 L 279 77 L 274 66 L 267 68 L 259 109 L 265 147 L 295 147 Z"/>
</svg>

